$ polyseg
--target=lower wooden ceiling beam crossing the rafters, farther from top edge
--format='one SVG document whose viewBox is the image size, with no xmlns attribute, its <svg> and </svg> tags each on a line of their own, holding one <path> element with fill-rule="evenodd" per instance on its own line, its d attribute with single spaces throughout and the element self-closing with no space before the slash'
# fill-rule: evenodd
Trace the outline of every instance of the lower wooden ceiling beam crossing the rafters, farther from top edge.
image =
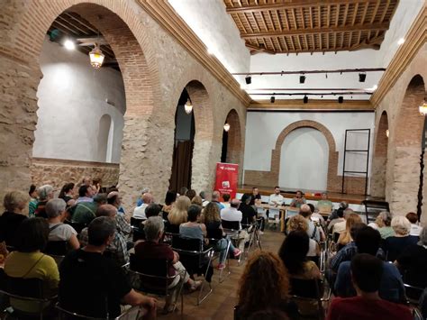
<svg viewBox="0 0 427 320">
<path fill-rule="evenodd" d="M 243 39 L 253 39 L 261 37 L 279 37 L 279 36 L 291 36 L 291 35 L 303 35 L 309 33 L 335 33 L 335 32 L 358 32 L 358 31 L 386 31 L 389 27 L 389 23 L 373 23 L 365 25 L 355 26 L 338 26 L 330 28 L 315 28 L 311 30 L 290 30 L 282 32 L 258 32 L 258 33 L 241 33 Z"/>
</svg>

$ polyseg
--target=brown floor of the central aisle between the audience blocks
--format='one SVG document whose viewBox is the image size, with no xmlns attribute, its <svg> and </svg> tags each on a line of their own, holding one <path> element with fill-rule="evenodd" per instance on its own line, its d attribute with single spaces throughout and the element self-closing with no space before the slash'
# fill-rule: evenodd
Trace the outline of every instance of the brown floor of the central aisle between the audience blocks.
<svg viewBox="0 0 427 320">
<path fill-rule="evenodd" d="M 284 234 L 268 231 L 261 236 L 261 246 L 263 250 L 277 252 L 280 247 Z M 216 261 L 214 265 L 216 265 Z M 227 320 L 233 319 L 233 307 L 237 303 L 237 288 L 239 287 L 239 279 L 241 272 L 244 269 L 244 263 L 241 266 L 237 265 L 237 261 L 231 261 L 232 274 L 223 281 L 218 283 L 218 270 L 214 271 L 213 275 L 213 292 L 207 297 L 200 306 L 196 306 L 197 293 L 186 294 L 184 296 L 184 315 L 186 320 Z M 161 306 L 163 301 L 160 302 Z M 159 319 L 180 319 L 180 311 L 175 311 L 172 314 L 161 315 Z"/>
</svg>

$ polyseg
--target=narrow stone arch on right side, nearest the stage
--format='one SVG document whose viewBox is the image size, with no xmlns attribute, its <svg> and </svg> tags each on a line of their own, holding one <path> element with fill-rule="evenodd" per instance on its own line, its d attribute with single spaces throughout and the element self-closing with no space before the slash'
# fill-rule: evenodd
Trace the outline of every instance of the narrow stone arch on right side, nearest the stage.
<svg viewBox="0 0 427 320">
<path fill-rule="evenodd" d="M 372 160 L 372 177 L 370 194 L 373 197 L 386 197 L 386 166 L 388 152 L 388 116 L 383 111 L 379 118 Z"/>
</svg>

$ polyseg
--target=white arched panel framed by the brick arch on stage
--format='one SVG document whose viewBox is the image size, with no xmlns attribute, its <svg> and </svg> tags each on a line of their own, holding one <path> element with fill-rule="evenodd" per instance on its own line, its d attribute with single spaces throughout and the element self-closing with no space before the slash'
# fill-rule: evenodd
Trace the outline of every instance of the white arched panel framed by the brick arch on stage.
<svg viewBox="0 0 427 320">
<path fill-rule="evenodd" d="M 305 190 L 326 190 L 329 146 L 323 133 L 299 128 L 282 144 L 278 185 Z"/>
</svg>

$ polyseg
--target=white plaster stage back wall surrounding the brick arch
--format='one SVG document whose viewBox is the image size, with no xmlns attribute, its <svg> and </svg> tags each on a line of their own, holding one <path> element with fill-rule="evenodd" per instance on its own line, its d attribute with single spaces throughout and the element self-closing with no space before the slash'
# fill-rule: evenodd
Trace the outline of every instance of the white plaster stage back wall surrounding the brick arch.
<svg viewBox="0 0 427 320">
<path fill-rule="evenodd" d="M 275 148 L 278 135 L 291 123 L 301 120 L 312 120 L 323 124 L 332 133 L 339 151 L 338 174 L 342 173 L 345 131 L 348 129 L 371 129 L 370 156 L 373 151 L 374 113 L 365 112 L 248 112 L 246 119 L 246 141 L 244 155 L 244 169 L 269 171 L 271 165 L 271 151 Z M 350 148 L 366 148 L 367 134 L 351 134 Z M 307 148 L 307 152 L 310 151 Z M 295 156 L 299 161 L 300 155 Z M 281 157 L 281 162 L 284 158 Z M 370 168 L 371 160 L 369 160 Z M 283 163 L 281 163 L 281 167 Z M 366 169 L 365 156 L 350 156 L 346 159 L 346 169 Z M 370 169 L 369 169 L 370 171 Z M 358 175 L 356 175 L 358 176 Z M 370 176 L 370 174 L 369 174 Z M 293 187 L 293 186 L 288 186 Z"/>
</svg>

